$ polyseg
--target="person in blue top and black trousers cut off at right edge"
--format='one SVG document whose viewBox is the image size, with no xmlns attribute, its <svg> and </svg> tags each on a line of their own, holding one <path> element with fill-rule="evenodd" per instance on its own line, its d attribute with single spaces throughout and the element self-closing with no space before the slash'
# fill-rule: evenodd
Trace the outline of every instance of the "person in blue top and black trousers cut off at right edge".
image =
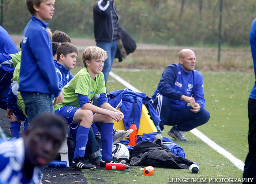
<svg viewBox="0 0 256 184">
<path fill-rule="evenodd" d="M 254 73 L 256 78 L 256 19 L 254 19 L 252 22 L 249 41 L 251 45 Z M 249 133 L 248 133 L 249 153 L 244 163 L 243 177 L 254 178 L 253 183 L 256 183 L 256 151 L 255 151 L 256 150 L 256 81 L 249 95 L 248 118 L 249 118 Z"/>
</svg>

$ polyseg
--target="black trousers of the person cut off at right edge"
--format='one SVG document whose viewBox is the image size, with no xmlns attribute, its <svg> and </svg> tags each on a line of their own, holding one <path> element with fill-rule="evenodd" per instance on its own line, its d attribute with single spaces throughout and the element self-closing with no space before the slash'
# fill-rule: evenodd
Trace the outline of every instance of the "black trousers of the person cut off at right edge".
<svg viewBox="0 0 256 184">
<path fill-rule="evenodd" d="M 248 118 L 249 133 L 248 144 L 249 153 L 245 159 L 243 177 L 253 177 L 253 183 L 256 183 L 256 100 L 249 98 L 248 100 Z"/>
</svg>

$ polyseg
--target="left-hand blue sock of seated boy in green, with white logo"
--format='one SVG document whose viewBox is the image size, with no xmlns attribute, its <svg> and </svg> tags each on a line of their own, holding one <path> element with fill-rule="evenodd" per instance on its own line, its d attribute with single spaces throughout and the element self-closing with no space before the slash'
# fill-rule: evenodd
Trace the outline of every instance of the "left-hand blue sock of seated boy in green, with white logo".
<svg viewBox="0 0 256 184">
<path fill-rule="evenodd" d="M 84 157 L 89 131 L 90 129 L 79 125 L 76 133 L 76 149 L 74 153 L 74 158 L 76 158 L 77 156 Z"/>
</svg>

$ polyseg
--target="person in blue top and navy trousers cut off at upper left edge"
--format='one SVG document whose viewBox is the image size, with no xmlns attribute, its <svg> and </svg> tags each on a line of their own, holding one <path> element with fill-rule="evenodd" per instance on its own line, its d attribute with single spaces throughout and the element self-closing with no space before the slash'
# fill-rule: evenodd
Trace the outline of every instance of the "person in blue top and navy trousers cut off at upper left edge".
<svg viewBox="0 0 256 184">
<path fill-rule="evenodd" d="M 8 34 L 8 32 L 0 26 L 0 53 L 14 54 L 18 53 L 18 49 Z M 8 65 L 0 64 L 0 108 L 7 110 L 6 98 L 11 84 L 14 68 Z"/>
</svg>

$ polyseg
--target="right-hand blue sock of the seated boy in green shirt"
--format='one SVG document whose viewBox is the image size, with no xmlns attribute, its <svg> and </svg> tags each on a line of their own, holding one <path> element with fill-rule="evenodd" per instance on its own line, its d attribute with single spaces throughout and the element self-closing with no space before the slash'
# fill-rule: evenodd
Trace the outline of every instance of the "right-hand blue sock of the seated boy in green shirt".
<svg viewBox="0 0 256 184">
<path fill-rule="evenodd" d="M 112 158 L 113 147 L 113 126 L 114 123 L 102 123 L 101 125 L 101 143 L 102 160 L 108 161 Z"/>
</svg>

